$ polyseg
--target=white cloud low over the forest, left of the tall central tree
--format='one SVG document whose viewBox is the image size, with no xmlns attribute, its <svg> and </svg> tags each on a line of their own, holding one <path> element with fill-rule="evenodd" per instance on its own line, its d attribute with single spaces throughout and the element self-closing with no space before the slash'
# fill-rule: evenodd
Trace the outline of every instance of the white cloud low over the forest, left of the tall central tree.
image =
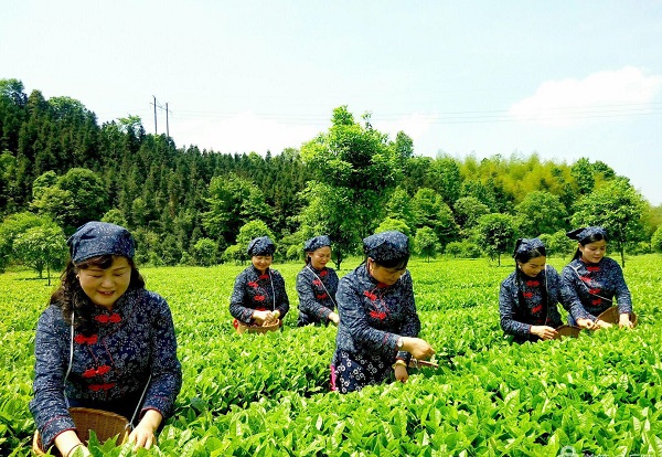
<svg viewBox="0 0 662 457">
<path fill-rule="evenodd" d="M 314 138 L 320 126 L 280 123 L 265 119 L 253 111 L 243 111 L 227 118 L 186 119 L 174 121 L 170 135 L 178 146 L 196 145 L 216 152 L 252 152 L 277 155 L 285 148 L 300 148 Z"/>
</svg>

